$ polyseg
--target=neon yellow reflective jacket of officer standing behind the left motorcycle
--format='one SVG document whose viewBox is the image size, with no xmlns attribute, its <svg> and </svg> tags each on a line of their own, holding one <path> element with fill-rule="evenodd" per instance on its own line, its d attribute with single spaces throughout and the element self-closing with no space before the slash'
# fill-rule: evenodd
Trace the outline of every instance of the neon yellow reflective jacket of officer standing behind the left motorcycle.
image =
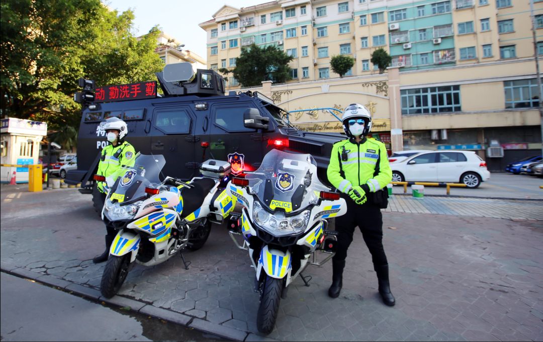
<svg viewBox="0 0 543 342">
<path fill-rule="evenodd" d="M 102 150 L 97 175 L 116 179 L 118 176 L 121 176 L 119 174 L 121 168 L 124 166 L 134 166 L 135 160 L 136 151 L 134 150 L 134 146 L 127 143 L 127 141 L 117 146 L 110 144 Z M 104 185 L 107 185 L 107 183 L 98 182 L 97 186 L 100 192 L 105 192 Z"/>
</svg>

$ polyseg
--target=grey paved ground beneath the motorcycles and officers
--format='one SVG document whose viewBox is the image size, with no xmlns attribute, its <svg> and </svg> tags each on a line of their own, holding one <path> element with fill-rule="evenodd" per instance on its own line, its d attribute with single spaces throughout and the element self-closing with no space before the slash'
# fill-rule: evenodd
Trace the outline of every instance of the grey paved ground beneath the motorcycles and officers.
<svg viewBox="0 0 543 342">
<path fill-rule="evenodd" d="M 3 190 L 1 201 L 2 270 L 99 297 L 104 264 L 91 259 L 103 249 L 104 228 L 88 195 Z M 396 306 L 381 304 L 356 233 L 340 298 L 327 296 L 331 263 L 309 266 L 311 286 L 297 279 L 289 287 L 267 338 L 543 340 L 543 222 L 532 208 L 541 204 L 393 196 L 387 211 L 395 212 L 383 213 L 383 229 Z M 450 215 L 435 214 L 443 208 Z M 518 219 L 524 216 L 531 220 Z M 179 257 L 136 265 L 112 302 L 231 339 L 265 339 L 256 330 L 254 270 L 225 228 L 214 226 L 204 248 L 185 256 L 189 270 Z"/>
</svg>

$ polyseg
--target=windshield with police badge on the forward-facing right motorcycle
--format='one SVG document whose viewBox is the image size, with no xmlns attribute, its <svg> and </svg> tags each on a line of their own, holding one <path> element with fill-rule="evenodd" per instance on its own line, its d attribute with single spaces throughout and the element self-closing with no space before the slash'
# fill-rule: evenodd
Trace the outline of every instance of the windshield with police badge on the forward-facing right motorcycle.
<svg viewBox="0 0 543 342">
<path fill-rule="evenodd" d="M 247 173 L 252 194 L 271 211 L 299 212 L 318 201 L 320 191 L 330 191 L 317 178 L 311 154 L 271 150 L 255 172 Z"/>
</svg>

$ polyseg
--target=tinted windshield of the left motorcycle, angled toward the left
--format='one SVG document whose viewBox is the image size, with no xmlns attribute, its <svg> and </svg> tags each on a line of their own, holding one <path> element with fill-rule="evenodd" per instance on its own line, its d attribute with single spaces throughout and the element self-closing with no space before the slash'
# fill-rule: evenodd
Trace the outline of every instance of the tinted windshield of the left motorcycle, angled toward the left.
<svg viewBox="0 0 543 342">
<path fill-rule="evenodd" d="M 147 156 L 136 154 L 134 166 L 119 169 L 118 178 L 113 184 L 109 198 L 116 200 L 121 205 L 130 204 L 147 196 L 145 188 L 156 188 L 160 183 L 159 175 L 166 164 L 161 154 Z"/>
</svg>

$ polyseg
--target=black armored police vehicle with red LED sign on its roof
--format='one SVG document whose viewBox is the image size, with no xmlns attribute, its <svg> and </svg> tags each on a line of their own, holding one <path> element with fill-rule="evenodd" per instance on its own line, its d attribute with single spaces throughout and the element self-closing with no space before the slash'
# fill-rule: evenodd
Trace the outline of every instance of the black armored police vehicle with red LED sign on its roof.
<svg viewBox="0 0 543 342">
<path fill-rule="evenodd" d="M 81 183 L 81 192 L 93 192 L 100 151 L 109 144 L 100 122 L 111 117 L 127 122 L 126 140 L 136 152 L 166 158 L 162 171 L 167 176 L 191 179 L 210 158 L 228 160 L 238 175 L 256 170 L 268 151 L 279 149 L 312 154 L 319 178 L 327 181 L 332 144 L 345 135 L 300 131 L 261 93 L 225 95 L 224 79 L 213 70 L 194 74 L 190 63 L 168 64 L 156 76 L 163 95 L 156 81 L 94 87 L 93 81 L 80 80 L 84 91 L 74 96 L 83 106 L 78 169 L 68 171 L 66 183 Z"/>
</svg>

